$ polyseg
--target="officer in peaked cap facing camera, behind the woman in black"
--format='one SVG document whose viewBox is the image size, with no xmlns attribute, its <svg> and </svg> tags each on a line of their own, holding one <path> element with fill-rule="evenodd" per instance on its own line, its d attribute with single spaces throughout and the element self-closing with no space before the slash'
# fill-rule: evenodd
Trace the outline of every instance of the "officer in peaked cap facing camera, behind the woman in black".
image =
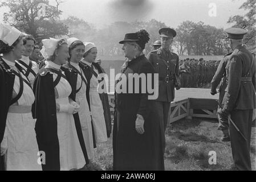
<svg viewBox="0 0 256 182">
<path fill-rule="evenodd" d="M 170 102 L 174 100 L 174 87 L 176 83 L 174 78 L 178 77 L 178 55 L 170 52 L 173 38 L 176 31 L 172 28 L 161 28 L 159 30 L 161 37 L 161 47 L 148 54 L 148 60 L 152 63 L 156 72 L 159 73 L 159 98 L 156 100 L 157 111 L 161 119 L 161 129 L 165 132 L 168 122 L 168 113 Z M 180 89 L 176 85 L 176 89 Z"/>
</svg>

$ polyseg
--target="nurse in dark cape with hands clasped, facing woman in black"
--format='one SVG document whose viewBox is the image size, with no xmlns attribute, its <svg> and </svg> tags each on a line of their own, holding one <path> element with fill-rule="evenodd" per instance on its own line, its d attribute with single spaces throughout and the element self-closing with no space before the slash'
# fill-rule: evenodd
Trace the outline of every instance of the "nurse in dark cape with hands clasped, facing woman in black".
<svg viewBox="0 0 256 182">
<path fill-rule="evenodd" d="M 64 40 L 43 39 L 46 66 L 35 78 L 34 117 L 36 138 L 40 151 L 45 152 L 43 170 L 71 170 L 86 168 L 82 146 L 79 142 L 73 114 L 79 105 L 69 96 L 71 85 L 60 69 L 70 58 Z"/>
</svg>

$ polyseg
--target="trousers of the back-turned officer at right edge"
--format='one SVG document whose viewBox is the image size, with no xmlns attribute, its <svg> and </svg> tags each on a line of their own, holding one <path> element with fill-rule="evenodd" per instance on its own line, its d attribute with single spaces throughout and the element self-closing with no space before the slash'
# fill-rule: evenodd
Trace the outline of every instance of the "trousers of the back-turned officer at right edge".
<svg viewBox="0 0 256 182">
<path fill-rule="evenodd" d="M 247 139 L 246 141 L 229 121 L 230 143 L 235 167 L 241 171 L 251 171 L 250 141 L 253 109 L 233 110 L 230 118 Z"/>
</svg>

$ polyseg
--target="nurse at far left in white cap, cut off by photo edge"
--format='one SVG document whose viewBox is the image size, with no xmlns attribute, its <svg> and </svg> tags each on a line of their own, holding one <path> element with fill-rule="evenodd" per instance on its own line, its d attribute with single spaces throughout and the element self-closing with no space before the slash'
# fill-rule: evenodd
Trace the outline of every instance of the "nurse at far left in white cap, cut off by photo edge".
<svg viewBox="0 0 256 182">
<path fill-rule="evenodd" d="M 8 171 L 42 170 L 31 113 L 35 96 L 15 63 L 24 51 L 22 32 L 0 24 L 0 168 Z"/>
</svg>

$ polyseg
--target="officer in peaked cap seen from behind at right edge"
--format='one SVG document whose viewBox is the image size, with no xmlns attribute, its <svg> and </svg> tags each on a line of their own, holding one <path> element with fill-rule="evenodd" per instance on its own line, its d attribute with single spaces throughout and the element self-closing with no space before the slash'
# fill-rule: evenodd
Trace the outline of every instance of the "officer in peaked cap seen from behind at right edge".
<svg viewBox="0 0 256 182">
<path fill-rule="evenodd" d="M 220 115 L 229 118 L 229 134 L 235 169 L 251 170 L 250 139 L 255 104 L 255 57 L 243 46 L 241 28 L 225 30 L 233 53 L 226 65 L 227 88 Z"/>
</svg>

